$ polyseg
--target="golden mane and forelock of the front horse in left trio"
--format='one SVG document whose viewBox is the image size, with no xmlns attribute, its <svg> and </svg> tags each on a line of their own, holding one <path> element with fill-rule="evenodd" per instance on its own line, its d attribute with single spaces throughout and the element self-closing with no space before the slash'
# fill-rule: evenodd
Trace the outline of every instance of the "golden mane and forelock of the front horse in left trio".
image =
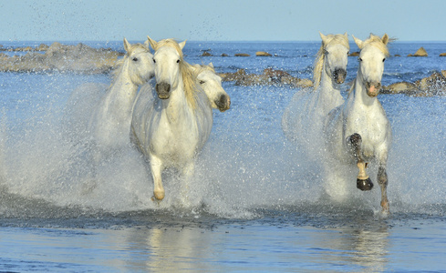
<svg viewBox="0 0 446 273">
<path fill-rule="evenodd" d="M 195 109 L 197 106 L 197 96 L 196 92 L 198 92 L 198 88 L 196 86 L 196 79 L 198 73 L 193 70 L 192 66 L 184 61 L 184 56 L 182 54 L 182 47 L 178 44 L 174 39 L 163 39 L 157 43 L 156 48 L 153 48 L 155 51 L 161 46 L 171 46 L 175 48 L 177 53 L 180 55 L 180 71 L 182 72 L 182 82 L 183 89 L 186 99 L 192 106 L 192 109 Z"/>
</svg>

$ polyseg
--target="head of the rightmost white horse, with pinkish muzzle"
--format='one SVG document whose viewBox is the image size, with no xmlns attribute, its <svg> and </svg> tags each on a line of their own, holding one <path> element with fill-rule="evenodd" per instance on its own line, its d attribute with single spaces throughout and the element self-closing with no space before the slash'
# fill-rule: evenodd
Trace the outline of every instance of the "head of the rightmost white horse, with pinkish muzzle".
<svg viewBox="0 0 446 273">
<path fill-rule="evenodd" d="M 358 76 L 361 77 L 362 84 L 366 87 L 367 95 L 378 96 L 384 72 L 384 61 L 389 56 L 387 48 L 389 36 L 386 34 L 380 38 L 377 35 L 370 35 L 366 41 L 361 41 L 355 36 L 353 39 L 361 50 L 358 57 Z"/>
</svg>

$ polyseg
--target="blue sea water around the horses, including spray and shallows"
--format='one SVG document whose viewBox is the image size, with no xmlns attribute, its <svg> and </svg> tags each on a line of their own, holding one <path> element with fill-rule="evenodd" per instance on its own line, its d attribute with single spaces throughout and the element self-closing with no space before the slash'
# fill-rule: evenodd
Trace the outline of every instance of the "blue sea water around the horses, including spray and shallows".
<svg viewBox="0 0 446 273">
<path fill-rule="evenodd" d="M 87 44 L 122 50 L 120 42 Z M 184 52 L 188 62 L 212 62 L 221 73 L 272 67 L 311 78 L 319 45 L 188 42 Z M 430 56 L 406 57 L 421 45 Z M 202 57 L 209 49 L 213 56 Z M 446 69 L 438 56 L 445 51 L 445 43 L 390 45 L 382 84 Z M 357 69 L 357 58 L 349 57 L 346 82 Z M 0 271 L 446 269 L 444 97 L 379 95 L 393 131 L 386 217 L 379 213 L 379 187 L 360 192 L 352 181 L 345 203 L 324 195 L 318 163 L 281 128 L 299 91 L 289 86 L 223 83 L 231 109 L 214 111 L 190 207 L 182 206 L 174 170 L 163 176 L 166 198 L 151 201 L 150 169 L 132 147 L 102 162 L 97 187 L 86 190 L 92 162 L 88 136 L 78 128 L 100 94 L 79 89 L 85 83 L 108 86 L 110 76 L 0 74 Z M 343 90 L 346 96 L 347 85 Z"/>
</svg>

